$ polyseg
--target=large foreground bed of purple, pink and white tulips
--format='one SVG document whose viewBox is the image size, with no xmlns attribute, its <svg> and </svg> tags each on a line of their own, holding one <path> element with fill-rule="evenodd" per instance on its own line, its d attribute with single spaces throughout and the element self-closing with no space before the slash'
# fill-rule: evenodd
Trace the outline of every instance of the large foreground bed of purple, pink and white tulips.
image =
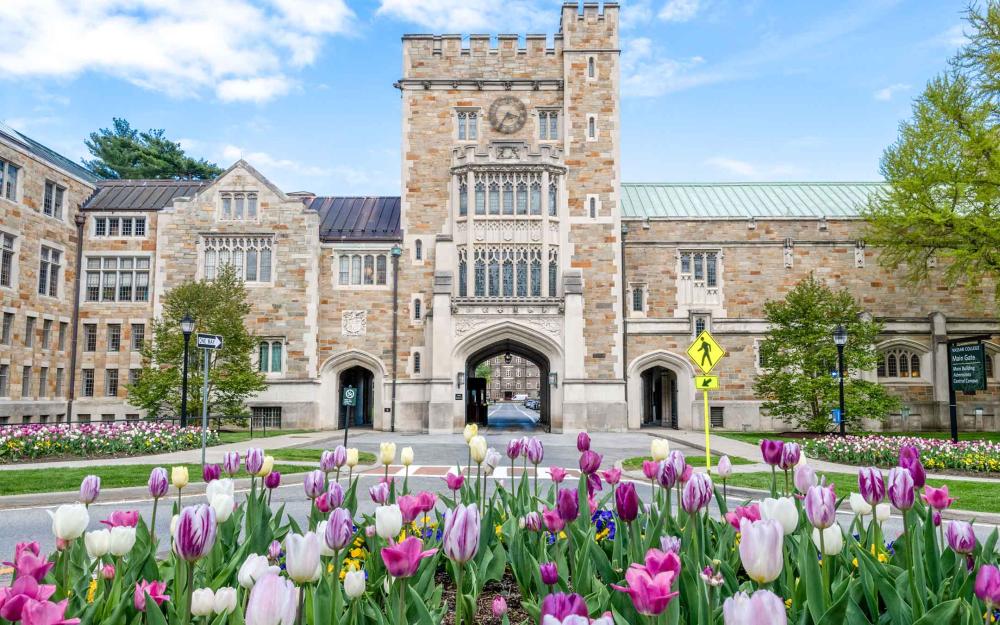
<svg viewBox="0 0 1000 625">
<path fill-rule="evenodd" d="M 936 523 L 946 488 L 924 486 L 919 451 L 904 447 L 885 476 L 859 471 L 856 491 L 820 482 L 798 445 L 764 441 L 770 497 L 729 509 L 716 479 L 678 451 L 651 449 L 648 481 L 602 470 L 585 434 L 581 479 L 536 472 L 545 450 L 513 439 L 506 458 L 475 431 L 440 492 L 412 492 L 383 443 L 384 479 L 363 490 L 357 452 L 323 454 L 302 480 L 307 518 L 270 504 L 280 482 L 259 449 L 205 469 L 206 498 L 184 497 L 186 471 L 154 469 L 150 495 L 173 515 L 169 535 L 121 510 L 87 531 L 99 483 L 53 512 L 56 552 L 22 543 L 0 618 L 25 625 L 944 625 L 992 622 L 1000 606 L 997 532 Z M 401 450 L 408 467 L 414 450 Z M 484 479 L 503 463 L 509 484 Z M 464 465 L 464 466 L 461 466 Z M 229 477 L 223 477 L 223 473 Z M 232 477 L 250 475 L 237 500 Z M 171 488 L 171 482 L 173 488 Z M 721 482 L 721 484 L 717 484 Z M 639 492 L 648 493 L 643 503 Z M 359 512 L 359 497 L 376 504 Z M 853 520 L 837 523 L 839 498 Z M 715 504 L 713 507 L 712 504 Z M 676 504 L 676 505 L 674 505 Z M 883 524 L 901 518 L 887 542 Z M 167 547 L 169 546 L 169 550 Z M 158 559 L 157 553 L 169 555 Z M 484 602 L 491 618 L 484 618 Z M 516 608 L 516 609 L 512 609 Z"/>
</svg>

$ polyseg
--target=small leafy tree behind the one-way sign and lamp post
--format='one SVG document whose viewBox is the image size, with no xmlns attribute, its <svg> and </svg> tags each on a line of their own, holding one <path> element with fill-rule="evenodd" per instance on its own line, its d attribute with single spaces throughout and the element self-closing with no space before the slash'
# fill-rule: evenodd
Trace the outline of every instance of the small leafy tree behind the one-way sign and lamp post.
<svg viewBox="0 0 1000 625">
<path fill-rule="evenodd" d="M 188 313 L 195 332 L 222 336 L 222 349 L 209 352 L 208 413 L 229 419 L 247 416 L 245 400 L 264 390 L 264 375 L 255 370 L 251 354 L 256 340 L 243 319 L 250 313 L 247 291 L 236 270 L 227 265 L 213 281 L 188 281 L 163 298 L 163 316 L 153 321 L 152 341 L 142 349 L 139 379 L 128 386 L 129 403 L 152 417 L 176 417 L 181 412 L 184 333 L 180 320 Z M 188 416 L 201 415 L 204 354 L 188 353 Z"/>
</svg>

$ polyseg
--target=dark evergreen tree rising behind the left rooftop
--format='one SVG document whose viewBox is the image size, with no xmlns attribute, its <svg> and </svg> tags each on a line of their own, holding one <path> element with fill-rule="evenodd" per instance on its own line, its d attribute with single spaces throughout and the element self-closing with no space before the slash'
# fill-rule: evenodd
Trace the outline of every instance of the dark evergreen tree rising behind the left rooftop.
<svg viewBox="0 0 1000 625">
<path fill-rule="evenodd" d="M 90 133 L 85 141 L 93 160 L 83 164 L 105 178 L 187 178 L 206 180 L 222 173 L 215 163 L 187 156 L 163 130 L 140 132 L 115 117 L 114 127 Z"/>
</svg>

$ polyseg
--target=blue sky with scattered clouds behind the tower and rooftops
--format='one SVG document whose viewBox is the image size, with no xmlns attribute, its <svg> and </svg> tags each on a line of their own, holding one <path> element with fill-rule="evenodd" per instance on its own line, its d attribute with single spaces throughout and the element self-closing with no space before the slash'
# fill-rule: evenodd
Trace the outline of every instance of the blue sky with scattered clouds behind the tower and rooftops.
<svg viewBox="0 0 1000 625">
<path fill-rule="evenodd" d="M 399 192 L 400 36 L 552 0 L 3 0 L 0 119 L 75 159 L 112 116 L 287 191 Z M 627 182 L 875 180 L 965 0 L 622 2 Z"/>
</svg>

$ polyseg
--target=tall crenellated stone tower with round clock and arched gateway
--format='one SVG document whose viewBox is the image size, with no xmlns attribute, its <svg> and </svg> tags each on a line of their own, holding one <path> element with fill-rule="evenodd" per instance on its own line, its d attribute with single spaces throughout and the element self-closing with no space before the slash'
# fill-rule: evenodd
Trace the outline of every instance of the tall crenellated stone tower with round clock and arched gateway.
<svg viewBox="0 0 1000 625">
<path fill-rule="evenodd" d="M 554 430 L 626 427 L 618 83 L 610 2 L 565 4 L 551 47 L 403 38 L 398 428 L 460 428 L 503 349 L 544 361 Z"/>
</svg>

